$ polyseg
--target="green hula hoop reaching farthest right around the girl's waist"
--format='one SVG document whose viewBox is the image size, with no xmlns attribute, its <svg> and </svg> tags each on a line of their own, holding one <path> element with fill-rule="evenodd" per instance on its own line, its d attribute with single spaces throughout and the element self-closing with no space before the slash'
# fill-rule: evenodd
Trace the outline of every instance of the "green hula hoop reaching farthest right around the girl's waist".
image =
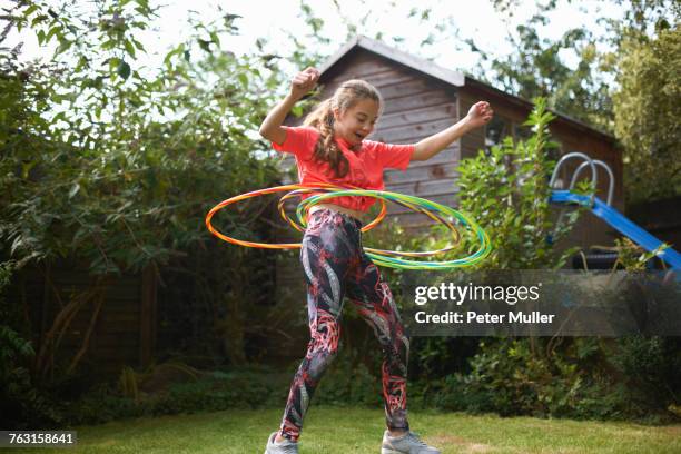
<svg viewBox="0 0 681 454">
<path fill-rule="evenodd" d="M 437 204 L 432 200 L 427 200 L 421 197 L 407 196 L 404 194 L 389 193 L 383 190 L 355 190 L 355 189 L 346 189 L 346 190 L 337 190 L 330 194 L 322 194 L 317 196 L 313 196 L 305 200 L 302 200 L 298 204 L 298 208 L 296 210 L 296 215 L 298 216 L 298 220 L 304 224 L 305 217 L 303 213 L 305 209 L 308 209 L 307 206 L 320 204 L 322 201 L 332 198 L 332 197 L 342 197 L 342 196 L 369 196 L 376 197 L 379 199 L 387 199 L 391 201 L 406 201 L 413 205 L 418 205 L 425 208 L 428 208 L 433 211 L 437 211 L 444 215 L 450 215 L 456 218 L 461 224 L 468 227 L 476 236 L 480 243 L 478 249 L 464 258 L 457 258 L 454 260 L 445 260 L 445 261 L 422 261 L 422 260 L 406 260 L 402 258 L 392 257 L 392 254 L 385 254 L 383 251 L 378 251 L 372 248 L 364 248 L 366 255 L 374 261 L 376 265 L 386 266 L 389 268 L 402 268 L 402 269 L 452 269 L 452 268 L 461 268 L 464 266 L 475 265 L 482 259 L 484 259 L 492 251 L 492 245 L 490 243 L 490 237 L 471 218 L 465 216 L 464 214 L 455 210 L 452 207 L 447 207 L 445 205 Z"/>
</svg>

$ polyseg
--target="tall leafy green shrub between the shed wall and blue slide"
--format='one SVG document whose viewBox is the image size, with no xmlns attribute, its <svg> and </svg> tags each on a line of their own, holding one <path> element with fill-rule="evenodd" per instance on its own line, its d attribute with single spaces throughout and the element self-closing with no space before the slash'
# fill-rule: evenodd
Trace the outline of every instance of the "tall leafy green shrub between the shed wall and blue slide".
<svg viewBox="0 0 681 454">
<path fill-rule="evenodd" d="M 557 254 L 555 243 L 574 226 L 580 210 L 559 226 L 551 220 L 549 179 L 554 162 L 545 100 L 539 98 L 524 124 L 533 135 L 478 151 L 460 166 L 460 208 L 476 220 L 491 238 L 492 254 L 478 267 L 490 269 L 560 268 L 574 253 Z M 473 243 L 466 245 L 475 247 Z"/>
</svg>

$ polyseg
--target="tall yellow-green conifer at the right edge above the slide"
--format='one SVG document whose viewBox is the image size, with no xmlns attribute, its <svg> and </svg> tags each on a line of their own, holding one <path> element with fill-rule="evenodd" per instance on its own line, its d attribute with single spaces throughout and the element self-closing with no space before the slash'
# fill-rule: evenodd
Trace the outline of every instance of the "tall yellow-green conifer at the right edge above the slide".
<svg viewBox="0 0 681 454">
<path fill-rule="evenodd" d="M 681 195 L 681 31 L 652 40 L 629 39 L 614 95 L 615 131 L 624 146 L 626 199 Z M 663 181 L 663 184 L 660 184 Z"/>
</svg>

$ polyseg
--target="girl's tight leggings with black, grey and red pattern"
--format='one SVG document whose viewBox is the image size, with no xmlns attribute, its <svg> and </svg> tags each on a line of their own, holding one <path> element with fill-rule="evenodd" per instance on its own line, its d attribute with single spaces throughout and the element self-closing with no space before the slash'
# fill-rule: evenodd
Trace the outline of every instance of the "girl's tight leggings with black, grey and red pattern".
<svg viewBox="0 0 681 454">
<path fill-rule="evenodd" d="M 320 209 L 310 215 L 300 261 L 307 280 L 310 340 L 294 376 L 282 421 L 282 436 L 296 442 L 309 401 L 338 351 L 343 297 L 347 295 L 374 329 L 383 349 L 386 424 L 407 430 L 406 374 L 409 343 L 387 284 L 362 249 L 362 224 Z"/>
</svg>

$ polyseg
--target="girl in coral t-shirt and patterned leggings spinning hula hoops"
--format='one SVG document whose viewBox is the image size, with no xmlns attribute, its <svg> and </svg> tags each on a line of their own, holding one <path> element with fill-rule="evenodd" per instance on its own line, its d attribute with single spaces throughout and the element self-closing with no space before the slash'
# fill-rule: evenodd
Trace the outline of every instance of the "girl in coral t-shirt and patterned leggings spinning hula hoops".
<svg viewBox="0 0 681 454">
<path fill-rule="evenodd" d="M 372 85 L 348 80 L 307 116 L 305 126 L 282 126 L 293 106 L 314 88 L 318 78 L 315 68 L 296 75 L 288 96 L 260 126 L 260 135 L 273 142 L 275 150 L 295 155 L 302 184 L 330 182 L 384 189 L 384 168 L 405 170 L 409 161 L 430 159 L 467 131 L 485 125 L 493 115 L 487 102 L 477 102 L 463 120 L 415 145 L 366 140 L 374 130 L 383 101 Z M 373 327 L 383 349 L 387 430 L 382 454 L 440 453 L 409 431 L 406 409 L 408 339 L 387 284 L 363 251 L 359 233 L 364 213 L 374 203 L 369 197 L 336 197 L 309 210 L 300 261 L 307 282 L 312 338 L 293 379 L 282 426 L 269 436 L 265 454 L 298 452 L 297 442 L 309 401 L 337 353 L 344 295 Z"/>
</svg>

